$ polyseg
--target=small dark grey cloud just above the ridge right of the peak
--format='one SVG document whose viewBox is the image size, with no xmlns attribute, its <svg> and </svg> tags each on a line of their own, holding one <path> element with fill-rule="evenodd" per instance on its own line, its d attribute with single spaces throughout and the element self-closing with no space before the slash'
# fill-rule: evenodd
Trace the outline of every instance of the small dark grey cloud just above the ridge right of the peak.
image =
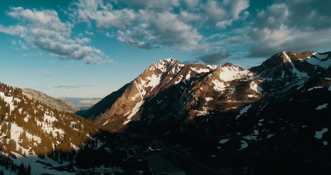
<svg viewBox="0 0 331 175">
<path fill-rule="evenodd" d="M 210 65 L 219 65 L 223 64 L 226 60 L 228 60 L 229 56 L 231 56 L 231 54 L 227 50 L 223 49 L 220 52 L 208 53 L 199 56 L 198 60 Z"/>
</svg>

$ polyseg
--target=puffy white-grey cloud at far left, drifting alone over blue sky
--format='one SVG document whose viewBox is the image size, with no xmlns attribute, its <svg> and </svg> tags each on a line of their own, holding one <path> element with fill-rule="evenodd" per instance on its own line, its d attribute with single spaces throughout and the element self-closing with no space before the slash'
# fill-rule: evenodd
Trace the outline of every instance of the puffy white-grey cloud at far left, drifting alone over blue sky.
<svg viewBox="0 0 331 175">
<path fill-rule="evenodd" d="M 19 36 L 33 48 L 61 59 L 80 59 L 87 64 L 100 64 L 105 61 L 103 52 L 86 45 L 90 41 L 88 38 L 72 39 L 73 25 L 69 22 L 63 23 L 54 10 L 38 11 L 13 7 L 7 15 L 18 20 L 18 24 L 7 27 L 0 25 L 0 32 Z"/>
</svg>

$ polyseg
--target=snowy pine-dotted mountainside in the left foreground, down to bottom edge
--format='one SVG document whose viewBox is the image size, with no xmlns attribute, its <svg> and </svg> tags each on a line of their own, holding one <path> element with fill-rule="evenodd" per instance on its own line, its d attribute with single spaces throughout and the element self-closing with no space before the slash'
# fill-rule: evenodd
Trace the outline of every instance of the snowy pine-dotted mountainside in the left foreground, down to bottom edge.
<svg viewBox="0 0 331 175">
<path fill-rule="evenodd" d="M 27 93 L 53 100 L 32 89 L 0 83 L 0 173 L 76 174 L 74 169 L 91 167 L 83 166 L 79 160 L 96 165 L 93 155 L 100 154 L 95 152 L 98 148 L 91 141 L 99 142 L 99 148 L 104 145 L 96 139 L 102 133 L 100 127 L 73 113 L 54 109 Z M 93 155 L 84 152 L 83 146 Z"/>
</svg>

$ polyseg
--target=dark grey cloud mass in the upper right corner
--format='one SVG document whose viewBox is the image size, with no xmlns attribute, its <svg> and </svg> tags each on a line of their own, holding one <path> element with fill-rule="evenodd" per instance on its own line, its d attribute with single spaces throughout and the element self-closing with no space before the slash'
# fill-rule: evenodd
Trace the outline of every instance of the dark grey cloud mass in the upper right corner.
<svg viewBox="0 0 331 175">
<path fill-rule="evenodd" d="M 281 51 L 318 51 L 330 45 L 330 1 L 285 1 L 261 10 L 249 36 L 251 57 Z"/>
</svg>

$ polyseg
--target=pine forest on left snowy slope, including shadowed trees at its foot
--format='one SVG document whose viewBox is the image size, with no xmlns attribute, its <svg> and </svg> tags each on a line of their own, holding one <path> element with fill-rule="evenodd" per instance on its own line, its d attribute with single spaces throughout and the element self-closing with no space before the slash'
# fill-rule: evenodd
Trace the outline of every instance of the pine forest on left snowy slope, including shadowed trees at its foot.
<svg viewBox="0 0 331 175">
<path fill-rule="evenodd" d="M 86 169 L 101 165 L 121 166 L 123 159 L 127 159 L 127 152 L 117 147 L 116 139 L 110 132 L 101 132 L 101 128 L 91 121 L 73 113 L 52 109 L 38 100 L 30 99 L 20 88 L 0 82 L 0 91 L 7 97 L 13 97 L 11 100 L 13 110 L 4 98 L 0 98 L 0 138 L 2 138 L 0 145 L 6 147 L 6 150 L 2 151 L 7 151 L 9 155 L 14 155 L 10 154 L 11 152 L 17 152 L 27 156 L 26 154 L 32 154 L 34 151 L 40 158 L 45 158 L 47 155 L 59 163 L 68 162 L 71 167 L 69 169 L 73 169 L 74 160 L 77 167 Z M 51 118 L 46 118 L 45 114 Z M 13 124 L 24 130 L 20 132 L 18 141 L 11 139 Z M 50 127 L 52 131 L 45 129 Z M 27 136 L 28 133 L 32 138 Z M 36 142 L 34 137 L 40 138 L 41 142 Z M 91 140 L 91 137 L 99 139 Z M 102 146 L 98 146 L 98 140 L 102 140 Z M 17 143 L 19 147 L 16 146 Z M 31 172 L 30 166 L 26 167 L 22 164 L 10 166 L 15 171 L 18 169 L 19 174 L 25 175 Z"/>
</svg>

